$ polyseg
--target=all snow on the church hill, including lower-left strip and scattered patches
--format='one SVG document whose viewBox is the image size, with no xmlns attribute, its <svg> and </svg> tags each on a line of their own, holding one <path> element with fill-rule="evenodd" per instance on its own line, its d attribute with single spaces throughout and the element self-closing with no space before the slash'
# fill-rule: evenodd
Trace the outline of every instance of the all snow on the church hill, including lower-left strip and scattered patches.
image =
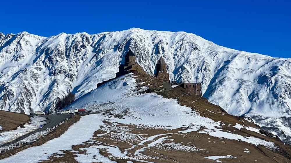
<svg viewBox="0 0 291 163">
<path fill-rule="evenodd" d="M 166 138 L 168 137 L 156 139 L 164 135 L 178 135 L 180 133 L 185 134 L 191 131 L 198 131 L 199 129 L 199 133 L 209 134 L 218 138 L 237 140 L 240 143 L 246 142 L 250 145 L 255 146 L 262 145 L 271 150 L 276 150 L 278 148 L 273 142 L 269 142 L 255 137 L 234 134 L 230 131 L 226 132 L 221 129 L 221 125 L 227 124 L 221 124 L 221 122 L 215 122 L 210 118 L 200 116 L 198 112 L 192 111 L 191 108 L 181 106 L 175 99 L 163 98 L 162 96 L 155 93 L 136 94 L 143 89 L 146 88 L 136 87 L 136 79 L 134 78 L 133 74 L 121 76 L 115 80 L 110 81 L 109 83 L 102 85 L 101 87 L 76 100 L 68 108 L 74 109 L 86 106 L 86 108 L 97 108 L 97 110 L 111 109 L 111 113 L 115 115 L 124 113 L 122 115 L 122 118 L 108 117 L 102 113 L 83 116 L 79 120 L 79 122 L 73 124 L 68 129 L 68 131 L 66 131 L 59 138 L 50 140 L 43 145 L 34 146 L 24 151 L 21 151 L 11 157 L 3 159 L 2 161 L 15 162 L 16 160 L 19 160 L 19 158 L 22 158 L 22 162 L 36 162 L 41 160 L 48 160 L 49 156 L 53 155 L 54 153 L 54 155 L 61 156 L 62 154 L 64 154 L 61 150 L 70 150 L 76 153 L 76 155 L 78 156 L 76 157 L 76 159 L 79 162 L 114 162 L 109 160 L 110 157 L 104 157 L 102 153 L 99 152 L 99 149 L 107 149 L 107 152 L 115 157 L 118 157 L 128 155 L 140 155 L 139 152 L 142 152 L 143 150 L 145 150 L 145 148 L 161 144 L 168 144 L 171 147 L 174 146 L 177 148 L 176 150 L 201 151 L 205 149 L 198 149 L 195 146 L 185 146 L 187 144 L 183 145 L 181 143 L 179 144 L 175 142 L 165 143 L 164 141 L 166 141 Z M 104 95 L 103 93 L 107 94 Z M 125 111 L 127 113 L 125 113 Z M 110 127 L 105 122 L 110 122 Z M 116 127 L 116 124 L 130 124 L 134 126 L 139 126 L 139 130 L 179 128 L 183 128 L 183 130 L 178 132 L 176 131 L 177 133 L 163 133 L 149 137 L 143 137 L 143 134 L 133 134 L 126 132 L 130 130 L 127 127 L 125 131 L 123 131 L 123 127 Z M 72 146 L 84 144 L 84 142 L 98 142 L 96 139 L 92 139 L 93 133 L 97 130 L 103 130 L 104 133 L 101 132 L 101 134 L 98 134 L 95 138 L 102 137 L 102 135 L 106 135 L 114 129 L 117 129 L 118 131 L 114 133 L 115 136 L 117 136 L 118 138 L 124 138 L 125 140 L 129 141 L 135 136 L 138 136 L 139 138 L 142 138 L 142 141 L 137 144 L 131 144 L 132 147 L 124 150 L 120 150 L 118 146 L 113 146 L 106 143 L 103 143 L 104 145 L 84 148 L 82 150 L 84 150 L 85 153 L 82 154 L 72 149 Z M 80 130 L 82 132 L 80 132 Z M 172 132 L 175 130 L 170 131 Z M 114 136 L 110 138 L 114 140 Z M 147 144 L 148 142 L 152 143 Z M 137 150 L 134 154 L 129 153 L 129 151 L 134 149 L 134 147 L 143 145 L 145 145 L 145 147 Z M 30 155 L 30 153 L 33 153 L 33 155 Z M 212 157 L 217 157 L 217 159 L 224 158 L 222 156 Z M 212 157 L 210 157 L 210 159 L 212 159 Z M 141 160 L 136 161 L 143 162 Z"/>
</svg>

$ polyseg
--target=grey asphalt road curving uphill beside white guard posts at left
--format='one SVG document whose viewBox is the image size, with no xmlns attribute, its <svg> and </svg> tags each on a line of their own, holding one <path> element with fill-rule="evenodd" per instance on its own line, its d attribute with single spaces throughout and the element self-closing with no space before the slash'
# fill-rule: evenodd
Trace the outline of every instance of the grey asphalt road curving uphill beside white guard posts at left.
<svg viewBox="0 0 291 163">
<path fill-rule="evenodd" d="M 45 115 L 45 116 L 41 116 L 41 117 L 45 117 L 47 118 L 47 124 L 44 124 L 43 127 L 41 129 L 37 129 L 35 131 L 32 131 L 30 133 L 27 133 L 25 135 L 20 136 L 19 138 L 16 138 L 15 140 L 11 141 L 11 142 L 7 142 L 4 144 L 0 145 L 0 148 L 3 146 L 9 146 L 11 144 L 14 144 L 16 142 L 19 142 L 20 140 L 34 134 L 37 132 L 40 132 L 41 130 L 46 130 L 47 128 L 52 128 L 54 127 L 56 124 L 62 122 L 63 120 L 65 120 L 66 118 L 68 118 L 69 116 L 71 116 L 72 114 L 61 114 L 61 115 L 57 115 L 57 114 L 51 114 L 51 115 Z"/>
</svg>

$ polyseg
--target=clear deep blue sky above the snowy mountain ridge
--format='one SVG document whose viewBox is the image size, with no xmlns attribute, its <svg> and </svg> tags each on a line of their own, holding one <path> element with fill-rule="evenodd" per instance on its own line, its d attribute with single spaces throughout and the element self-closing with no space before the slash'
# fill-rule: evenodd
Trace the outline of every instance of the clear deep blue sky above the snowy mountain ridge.
<svg viewBox="0 0 291 163">
<path fill-rule="evenodd" d="M 291 58 L 291 1 L 10 0 L 0 6 L 4 34 L 185 31 L 225 47 Z"/>
</svg>

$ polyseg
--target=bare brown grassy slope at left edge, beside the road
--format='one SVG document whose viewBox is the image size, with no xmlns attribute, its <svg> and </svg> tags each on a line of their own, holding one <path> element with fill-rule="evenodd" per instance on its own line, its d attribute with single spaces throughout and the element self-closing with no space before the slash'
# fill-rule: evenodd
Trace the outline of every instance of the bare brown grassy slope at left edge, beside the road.
<svg viewBox="0 0 291 163">
<path fill-rule="evenodd" d="M 14 130 L 29 122 L 29 116 L 21 113 L 0 110 L 0 125 L 2 131 Z"/>
</svg>

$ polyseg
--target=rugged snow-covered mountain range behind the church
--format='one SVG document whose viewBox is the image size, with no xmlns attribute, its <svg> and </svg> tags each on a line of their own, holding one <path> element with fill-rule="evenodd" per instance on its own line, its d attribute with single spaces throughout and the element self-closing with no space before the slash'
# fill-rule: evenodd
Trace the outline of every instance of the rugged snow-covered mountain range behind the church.
<svg viewBox="0 0 291 163">
<path fill-rule="evenodd" d="M 0 33 L 0 108 L 29 113 L 54 109 L 70 92 L 79 98 L 114 78 L 129 48 L 148 74 L 163 56 L 172 81 L 201 82 L 210 102 L 290 142 L 291 59 L 221 47 L 186 32 Z"/>
</svg>

